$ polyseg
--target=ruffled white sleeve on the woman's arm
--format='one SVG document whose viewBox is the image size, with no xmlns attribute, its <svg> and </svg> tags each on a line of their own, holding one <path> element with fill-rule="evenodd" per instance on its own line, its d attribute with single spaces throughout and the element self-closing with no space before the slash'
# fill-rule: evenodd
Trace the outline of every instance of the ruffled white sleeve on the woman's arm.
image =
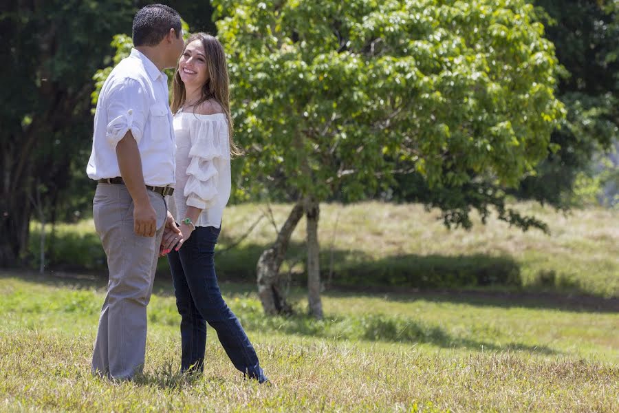
<svg viewBox="0 0 619 413">
<path fill-rule="evenodd" d="M 189 124 L 191 149 L 184 195 L 187 206 L 206 209 L 217 201 L 217 160 L 230 161 L 228 123 L 225 118 L 193 118 Z"/>
</svg>

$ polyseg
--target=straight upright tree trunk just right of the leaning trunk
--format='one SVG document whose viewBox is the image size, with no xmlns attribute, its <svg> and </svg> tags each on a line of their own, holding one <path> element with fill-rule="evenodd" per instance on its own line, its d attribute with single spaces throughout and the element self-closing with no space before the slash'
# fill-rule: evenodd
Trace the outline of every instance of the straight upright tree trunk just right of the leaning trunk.
<svg viewBox="0 0 619 413">
<path fill-rule="evenodd" d="M 321 208 L 316 198 L 305 198 L 305 218 L 307 218 L 307 299 L 310 313 L 317 319 L 323 318 L 321 302 L 321 263 L 319 260 L 318 218 Z"/>
</svg>

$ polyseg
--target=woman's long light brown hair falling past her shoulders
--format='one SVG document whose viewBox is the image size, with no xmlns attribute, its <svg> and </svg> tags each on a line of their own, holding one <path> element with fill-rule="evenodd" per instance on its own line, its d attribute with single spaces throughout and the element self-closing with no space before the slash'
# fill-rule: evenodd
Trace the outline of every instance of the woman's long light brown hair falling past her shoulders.
<svg viewBox="0 0 619 413">
<path fill-rule="evenodd" d="M 243 154 L 241 149 L 237 147 L 232 132 L 234 124 L 230 115 L 230 88 L 228 79 L 228 64 L 226 63 L 226 53 L 224 47 L 219 41 L 210 34 L 199 32 L 192 34 L 185 42 L 185 47 L 195 40 L 202 41 L 204 54 L 206 54 L 206 70 L 208 70 L 208 80 L 202 85 L 202 96 L 194 104 L 197 107 L 200 103 L 206 100 L 213 99 L 224 109 L 226 120 L 228 120 L 228 139 L 230 140 L 230 155 L 240 156 Z M 185 50 L 183 49 L 183 52 Z M 172 113 L 175 114 L 185 104 L 185 85 L 180 78 L 178 72 L 178 64 L 172 83 Z"/>
</svg>

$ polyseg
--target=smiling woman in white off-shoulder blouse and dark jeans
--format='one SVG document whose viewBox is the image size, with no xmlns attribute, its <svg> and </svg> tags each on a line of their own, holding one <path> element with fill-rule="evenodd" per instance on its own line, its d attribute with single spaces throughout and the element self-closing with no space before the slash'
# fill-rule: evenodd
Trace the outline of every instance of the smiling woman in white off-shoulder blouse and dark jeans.
<svg viewBox="0 0 619 413">
<path fill-rule="evenodd" d="M 173 81 L 172 112 L 176 135 L 176 221 L 184 241 L 168 255 L 176 305 L 182 317 L 182 371 L 202 372 L 206 323 L 234 366 L 259 383 L 267 381 L 256 352 L 217 285 L 213 255 L 221 215 L 230 197 L 230 155 L 239 155 L 232 140 L 228 69 L 221 43 L 205 33 L 193 34 Z"/>
</svg>

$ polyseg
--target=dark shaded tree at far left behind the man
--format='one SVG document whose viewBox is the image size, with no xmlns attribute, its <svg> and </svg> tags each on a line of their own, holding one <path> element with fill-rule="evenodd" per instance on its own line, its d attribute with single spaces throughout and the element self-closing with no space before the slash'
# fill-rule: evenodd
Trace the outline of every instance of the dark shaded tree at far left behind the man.
<svg viewBox="0 0 619 413">
<path fill-rule="evenodd" d="M 84 170 L 92 136 L 91 74 L 109 54 L 111 35 L 131 28 L 134 12 L 129 0 L 3 6 L 0 266 L 25 255 L 37 190 L 48 212 L 74 195 L 71 171 Z"/>
</svg>

